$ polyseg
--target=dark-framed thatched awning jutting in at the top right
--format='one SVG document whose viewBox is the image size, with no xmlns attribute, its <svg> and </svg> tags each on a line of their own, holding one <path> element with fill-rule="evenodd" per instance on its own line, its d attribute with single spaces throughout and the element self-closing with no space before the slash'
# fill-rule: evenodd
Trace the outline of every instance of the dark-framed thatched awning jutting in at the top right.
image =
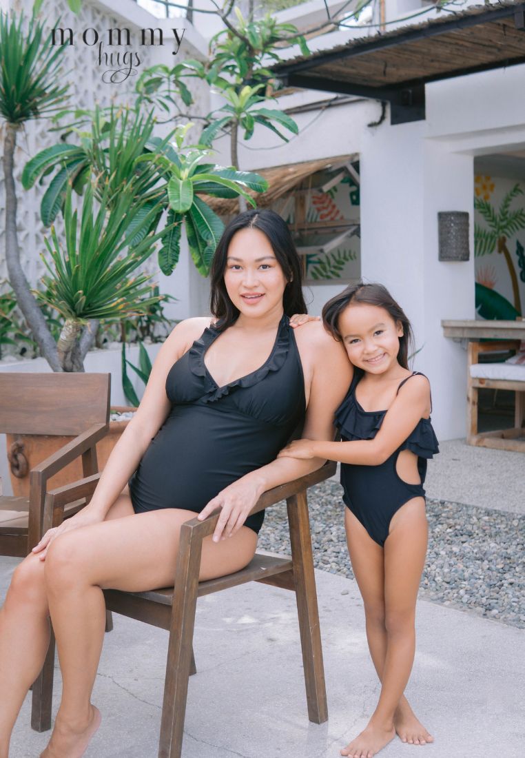
<svg viewBox="0 0 525 758">
<path fill-rule="evenodd" d="M 298 56 L 272 71 L 289 86 L 388 100 L 426 82 L 525 62 L 524 8 L 517 0 L 444 8 L 432 20 Z"/>
</svg>

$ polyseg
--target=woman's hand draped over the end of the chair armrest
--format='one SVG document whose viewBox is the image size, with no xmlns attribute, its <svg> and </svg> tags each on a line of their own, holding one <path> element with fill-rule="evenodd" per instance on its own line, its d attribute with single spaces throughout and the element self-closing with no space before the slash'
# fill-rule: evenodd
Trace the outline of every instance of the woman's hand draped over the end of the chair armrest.
<svg viewBox="0 0 525 758">
<path fill-rule="evenodd" d="M 199 521 L 204 521 L 214 510 L 220 508 L 219 520 L 212 539 L 214 542 L 219 542 L 219 540 L 225 540 L 226 537 L 233 537 L 233 534 L 242 527 L 263 492 L 264 489 L 255 481 L 239 479 L 210 500 L 197 518 Z"/>
</svg>

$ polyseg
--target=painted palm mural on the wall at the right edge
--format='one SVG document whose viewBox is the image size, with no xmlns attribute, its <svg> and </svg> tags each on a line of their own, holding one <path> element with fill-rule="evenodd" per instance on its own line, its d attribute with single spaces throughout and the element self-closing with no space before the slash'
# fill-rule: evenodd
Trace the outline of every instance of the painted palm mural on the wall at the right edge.
<svg viewBox="0 0 525 758">
<path fill-rule="evenodd" d="M 477 175 L 474 187 L 477 314 L 514 320 L 525 305 L 525 183 Z"/>
</svg>

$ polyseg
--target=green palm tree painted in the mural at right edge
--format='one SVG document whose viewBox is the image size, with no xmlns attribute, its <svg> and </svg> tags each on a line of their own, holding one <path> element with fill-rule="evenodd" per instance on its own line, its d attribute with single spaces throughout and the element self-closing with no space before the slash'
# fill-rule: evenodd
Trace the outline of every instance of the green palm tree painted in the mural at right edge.
<svg viewBox="0 0 525 758">
<path fill-rule="evenodd" d="M 508 236 L 515 234 L 518 230 L 525 227 L 525 210 L 518 208 L 511 211 L 511 202 L 518 195 L 523 195 L 523 189 L 519 184 L 515 184 L 512 189 L 505 195 L 498 211 L 483 198 L 474 198 L 474 208 L 480 212 L 489 226 L 484 229 L 476 224 L 474 227 L 474 249 L 476 255 L 488 255 L 494 250 L 505 256 L 505 262 L 508 266 L 508 273 L 511 276 L 512 294 L 514 296 L 514 308 L 521 314 L 520 287 L 517 280 L 516 270 L 512 262 L 511 253 L 507 247 Z"/>
</svg>

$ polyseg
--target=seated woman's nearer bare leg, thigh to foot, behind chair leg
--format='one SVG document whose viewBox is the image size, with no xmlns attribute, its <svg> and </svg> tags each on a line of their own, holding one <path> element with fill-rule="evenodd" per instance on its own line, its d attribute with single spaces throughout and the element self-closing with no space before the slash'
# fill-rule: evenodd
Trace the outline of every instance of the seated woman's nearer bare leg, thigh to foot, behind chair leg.
<svg viewBox="0 0 525 758">
<path fill-rule="evenodd" d="M 162 509 L 86 526 L 59 536 L 45 559 L 49 609 L 62 672 L 62 700 L 42 758 L 80 758 L 100 716 L 91 704 L 105 626 L 102 587 L 141 591 L 173 584 L 180 527 L 195 513 Z M 255 553 L 257 537 L 202 545 L 201 578 L 235 572 Z"/>
</svg>

